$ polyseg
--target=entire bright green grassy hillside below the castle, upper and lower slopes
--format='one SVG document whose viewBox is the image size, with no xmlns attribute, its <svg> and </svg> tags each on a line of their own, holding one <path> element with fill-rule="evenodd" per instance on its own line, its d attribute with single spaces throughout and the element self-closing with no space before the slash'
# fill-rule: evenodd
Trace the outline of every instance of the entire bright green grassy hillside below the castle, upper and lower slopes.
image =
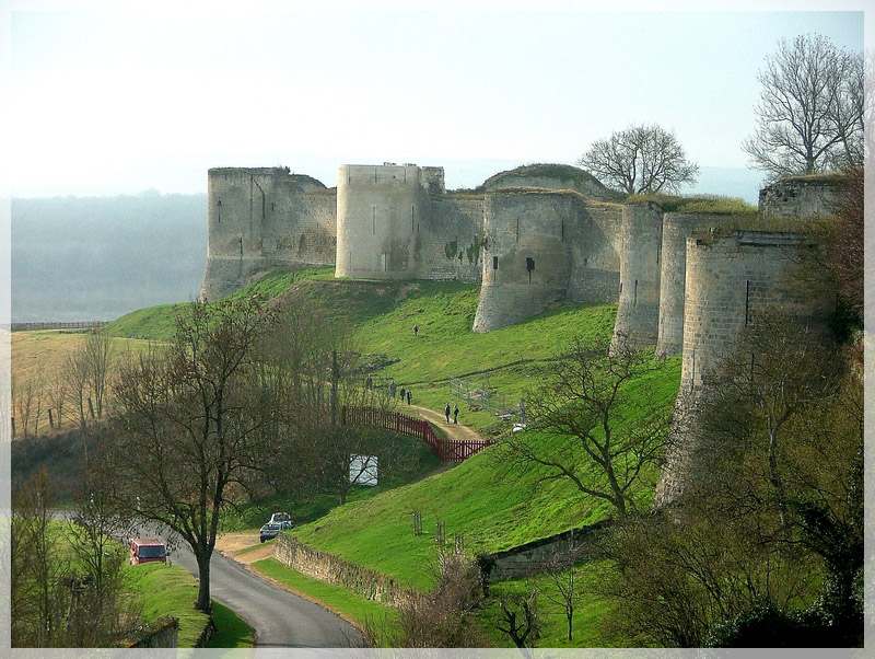
<svg viewBox="0 0 875 659">
<path fill-rule="evenodd" d="M 372 355 L 374 363 L 388 365 L 375 367 L 372 373 L 378 385 L 393 378 L 398 385 L 412 388 L 416 404 L 434 411 L 441 411 L 447 400 L 458 402 L 460 423 L 495 435 L 506 431 L 508 424 L 479 403 L 455 396 L 451 377 L 465 375 L 487 389 L 493 401 L 514 408 L 537 385 L 533 367 L 553 358 L 573 336 L 605 339 L 616 315 L 615 305 L 570 303 L 517 325 L 475 334 L 476 285 L 337 280 L 328 269 L 273 273 L 235 294 L 256 291 L 277 300 L 293 291 L 327 308 L 328 317 L 350 325 L 359 351 Z M 143 310 L 119 319 L 107 331 L 168 338 L 163 328 L 172 323 L 156 322 L 159 312 L 166 314 L 166 310 Z M 419 328 L 417 336 L 413 325 Z M 643 414 L 634 404 L 635 388 L 658 391 L 665 405 L 673 403 L 679 358 L 668 367 L 663 375 L 632 385 L 632 403 L 622 411 L 625 423 L 639 423 Z M 556 439 L 545 437 L 544 441 Z M 477 554 L 505 550 L 610 513 L 604 502 L 582 496 L 565 481 L 536 487 L 542 472 L 505 473 L 494 453 L 488 449 L 418 483 L 351 501 L 294 533 L 308 545 L 424 587 L 431 579 L 428 565 L 434 554 L 438 520 L 446 523 L 448 537 L 464 535 L 466 550 Z M 643 487 L 639 496 L 648 501 L 653 492 Z M 413 511 L 422 513 L 420 536 L 411 533 Z"/>
</svg>

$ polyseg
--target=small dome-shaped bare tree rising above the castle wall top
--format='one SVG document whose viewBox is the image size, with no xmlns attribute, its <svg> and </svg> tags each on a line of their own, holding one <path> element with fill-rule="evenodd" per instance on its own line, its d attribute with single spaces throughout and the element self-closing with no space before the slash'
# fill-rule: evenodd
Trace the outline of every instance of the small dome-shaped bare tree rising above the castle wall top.
<svg viewBox="0 0 875 659">
<path fill-rule="evenodd" d="M 695 183 L 699 173 L 674 132 L 655 124 L 630 126 L 596 140 L 578 164 L 627 195 L 676 193 L 682 184 Z"/>
</svg>

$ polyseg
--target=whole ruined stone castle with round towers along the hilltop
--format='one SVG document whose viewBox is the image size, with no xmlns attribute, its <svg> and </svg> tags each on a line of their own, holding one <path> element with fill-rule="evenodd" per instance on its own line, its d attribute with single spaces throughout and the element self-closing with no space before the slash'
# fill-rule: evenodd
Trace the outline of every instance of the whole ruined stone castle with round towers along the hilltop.
<svg viewBox="0 0 875 659">
<path fill-rule="evenodd" d="M 779 181 L 760 192 L 759 213 L 828 213 L 835 183 Z M 568 165 L 518 167 L 455 193 L 442 167 L 415 164 L 340 165 L 337 188 L 284 167 L 213 169 L 208 204 L 203 299 L 271 269 L 332 265 L 337 277 L 479 282 L 475 332 L 557 302 L 616 303 L 615 340 L 655 346 L 661 357 L 682 352 L 687 404 L 707 392 L 757 310 L 777 305 L 822 321 L 835 303 L 789 285 L 798 233 L 733 230 L 731 215 L 621 204 Z M 682 493 L 687 453 L 668 455 L 657 505 Z"/>
</svg>

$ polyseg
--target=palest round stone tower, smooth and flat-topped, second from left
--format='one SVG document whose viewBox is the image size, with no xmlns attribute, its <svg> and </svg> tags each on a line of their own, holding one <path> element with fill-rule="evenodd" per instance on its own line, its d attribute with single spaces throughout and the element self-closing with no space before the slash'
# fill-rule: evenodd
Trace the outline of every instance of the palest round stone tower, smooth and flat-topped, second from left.
<svg viewBox="0 0 875 659">
<path fill-rule="evenodd" d="M 427 195 L 417 165 L 340 165 L 336 276 L 416 277 L 417 227 Z"/>
</svg>

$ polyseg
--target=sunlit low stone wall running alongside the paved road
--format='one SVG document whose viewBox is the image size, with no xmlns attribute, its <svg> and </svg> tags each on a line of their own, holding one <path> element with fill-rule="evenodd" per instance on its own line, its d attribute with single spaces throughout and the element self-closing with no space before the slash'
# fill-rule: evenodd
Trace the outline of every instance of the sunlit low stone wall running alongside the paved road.
<svg viewBox="0 0 875 659">
<path fill-rule="evenodd" d="M 337 583 L 363 598 L 397 606 L 413 592 L 392 577 L 361 567 L 302 544 L 296 537 L 279 535 L 273 545 L 273 558 L 302 575 Z"/>
</svg>

